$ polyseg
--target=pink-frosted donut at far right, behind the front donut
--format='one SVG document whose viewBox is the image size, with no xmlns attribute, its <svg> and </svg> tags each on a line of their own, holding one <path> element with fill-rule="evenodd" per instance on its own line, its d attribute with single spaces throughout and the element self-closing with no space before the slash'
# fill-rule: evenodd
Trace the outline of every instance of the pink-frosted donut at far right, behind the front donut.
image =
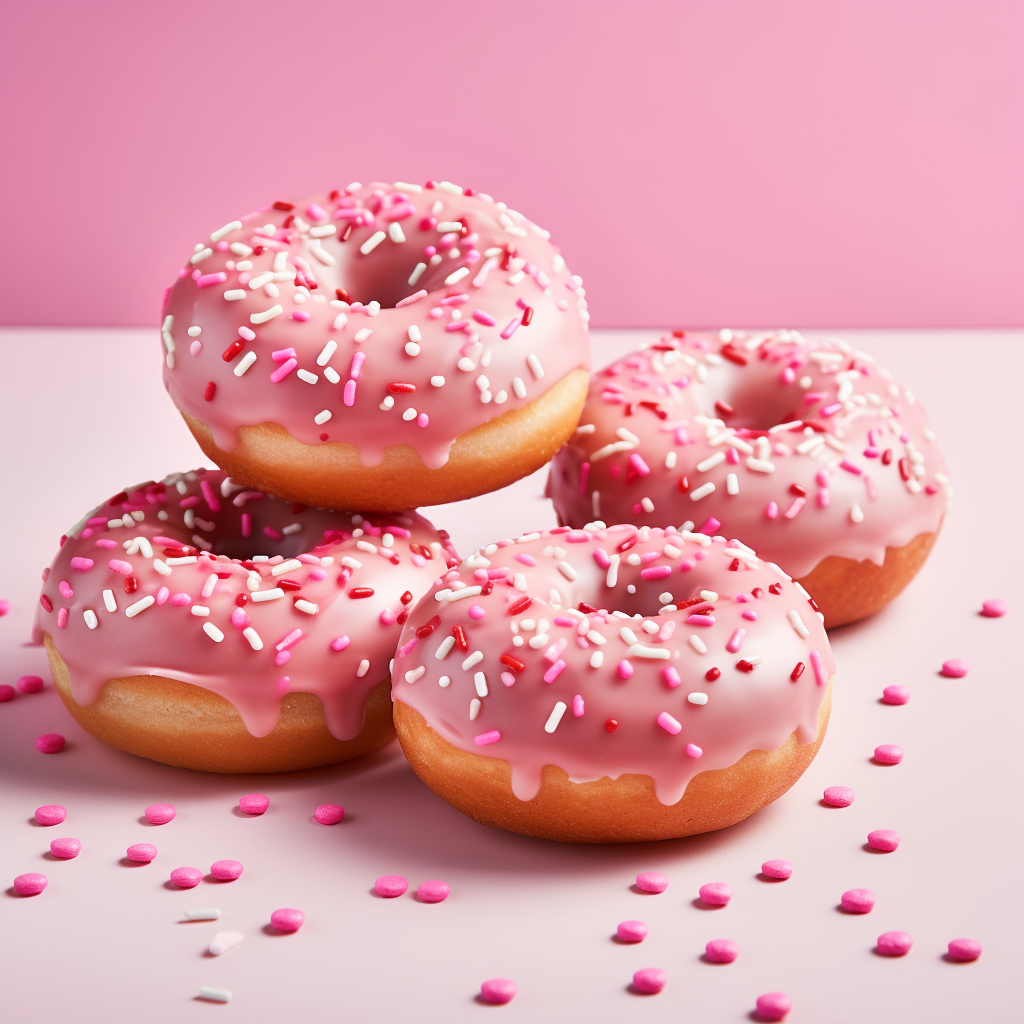
<svg viewBox="0 0 1024 1024">
<path fill-rule="evenodd" d="M 951 494 L 914 396 L 845 342 L 796 331 L 674 331 L 595 374 L 547 493 L 563 525 L 738 537 L 826 627 L 899 594 Z"/>
</svg>

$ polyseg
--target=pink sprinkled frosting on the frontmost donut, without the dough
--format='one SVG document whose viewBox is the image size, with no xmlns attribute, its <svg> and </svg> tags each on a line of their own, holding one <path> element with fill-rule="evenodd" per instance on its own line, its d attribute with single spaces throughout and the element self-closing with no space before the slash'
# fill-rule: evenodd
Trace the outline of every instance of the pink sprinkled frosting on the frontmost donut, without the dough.
<svg viewBox="0 0 1024 1024">
<path fill-rule="evenodd" d="M 402 630 L 392 695 L 507 761 L 520 800 L 556 765 L 579 782 L 647 775 L 674 804 L 699 772 L 813 740 L 834 671 L 806 593 L 738 542 L 555 529 L 438 581 Z"/>
</svg>

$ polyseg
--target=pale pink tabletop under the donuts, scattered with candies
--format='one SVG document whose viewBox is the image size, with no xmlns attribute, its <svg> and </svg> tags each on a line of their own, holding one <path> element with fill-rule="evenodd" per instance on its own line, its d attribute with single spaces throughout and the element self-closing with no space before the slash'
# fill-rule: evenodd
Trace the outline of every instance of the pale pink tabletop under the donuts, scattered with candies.
<svg viewBox="0 0 1024 1024">
<path fill-rule="evenodd" d="M 755 998 L 783 990 L 788 1020 L 1020 1020 L 1015 979 L 1021 928 L 1021 687 L 1014 580 L 1022 498 L 1008 459 L 1024 377 L 1021 332 L 846 332 L 910 384 L 928 407 L 956 486 L 951 516 L 910 589 L 874 618 L 833 634 L 839 662 L 833 721 L 817 760 L 780 801 L 716 834 L 649 845 L 561 846 L 478 825 L 425 788 L 396 744 L 362 761 L 275 776 L 204 775 L 109 750 L 69 718 L 43 653 L 26 645 L 39 572 L 60 532 L 126 483 L 190 468 L 202 456 L 161 393 L 158 342 L 148 330 L 8 330 L 0 333 L 3 501 L 0 681 L 47 679 L 36 695 L 0 706 L 0 880 L 41 870 L 34 898 L 0 893 L 0 1014 L 11 1022 L 63 1020 L 148 1024 L 231 1018 L 246 1022 L 461 1021 L 496 1014 L 519 1021 L 751 1019 Z M 595 365 L 640 335 L 595 336 Z M 505 492 L 427 510 L 462 554 L 554 524 L 541 498 L 543 473 Z M 1006 597 L 1011 612 L 988 620 L 981 601 Z M 937 674 L 966 657 L 965 679 Z M 880 702 L 901 683 L 910 702 Z M 61 754 L 37 753 L 43 732 L 68 737 Z M 902 764 L 880 767 L 873 748 L 898 742 Z M 852 807 L 821 805 L 844 784 Z M 265 793 L 270 810 L 248 818 L 240 796 Z M 141 819 L 172 803 L 173 822 Z M 340 803 L 337 826 L 313 809 Z M 59 803 L 68 820 L 32 821 Z M 893 854 L 867 852 L 873 828 L 895 828 Z M 77 860 L 55 861 L 49 841 L 75 836 Z M 148 866 L 122 857 L 133 843 L 160 854 Z M 762 861 L 795 866 L 787 882 L 758 877 Z M 207 870 L 243 861 L 233 883 L 168 888 L 183 864 Z M 666 893 L 633 889 L 638 871 L 670 879 Z M 443 879 L 452 896 L 427 905 L 373 895 L 381 874 L 415 890 Z M 728 907 L 695 905 L 698 887 L 729 883 Z M 9 881 L 3 883 L 9 885 Z M 863 916 L 837 909 L 845 890 L 874 891 Z M 181 923 L 190 907 L 218 906 L 216 923 Z M 297 934 L 264 929 L 281 906 L 305 911 Z M 639 918 L 650 935 L 613 941 Z M 239 930 L 241 946 L 205 954 L 214 933 Z M 909 955 L 873 951 L 882 932 L 909 932 Z M 949 939 L 985 946 L 974 964 L 943 957 Z M 702 962 L 705 943 L 734 939 L 739 958 Z M 634 971 L 660 967 L 655 996 L 629 990 Z M 515 1000 L 489 1009 L 479 984 L 509 977 Z M 202 984 L 233 991 L 227 1005 L 196 998 Z"/>
</svg>

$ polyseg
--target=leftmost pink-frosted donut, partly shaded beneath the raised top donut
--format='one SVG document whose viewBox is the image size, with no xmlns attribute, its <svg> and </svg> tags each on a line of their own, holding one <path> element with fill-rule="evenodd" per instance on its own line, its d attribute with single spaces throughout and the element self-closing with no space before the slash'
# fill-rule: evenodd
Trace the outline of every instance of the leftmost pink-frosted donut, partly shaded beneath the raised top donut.
<svg viewBox="0 0 1024 1024">
<path fill-rule="evenodd" d="M 412 512 L 174 473 L 61 538 L 34 638 L 72 717 L 119 750 L 216 772 L 333 764 L 393 737 L 389 662 L 454 555 Z"/>
</svg>

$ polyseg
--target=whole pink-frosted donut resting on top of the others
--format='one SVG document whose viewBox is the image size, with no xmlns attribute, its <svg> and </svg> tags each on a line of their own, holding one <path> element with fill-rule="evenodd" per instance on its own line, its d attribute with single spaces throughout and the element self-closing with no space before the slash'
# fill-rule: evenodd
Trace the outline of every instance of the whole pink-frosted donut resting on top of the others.
<svg viewBox="0 0 1024 1024">
<path fill-rule="evenodd" d="M 206 455 L 290 501 L 394 511 L 550 461 L 587 392 L 587 302 L 548 232 L 450 182 L 274 203 L 196 246 L 164 383 Z"/>
</svg>

